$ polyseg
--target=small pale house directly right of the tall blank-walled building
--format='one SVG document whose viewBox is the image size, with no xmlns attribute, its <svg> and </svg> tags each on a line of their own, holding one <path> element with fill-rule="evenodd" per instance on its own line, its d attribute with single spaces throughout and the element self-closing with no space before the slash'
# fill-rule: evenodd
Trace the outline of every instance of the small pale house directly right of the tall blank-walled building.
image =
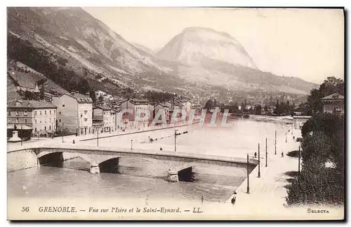
<svg viewBox="0 0 351 227">
<path fill-rule="evenodd" d="M 102 120 L 102 130 L 100 132 L 114 132 L 116 126 L 116 111 L 108 106 L 96 106 L 93 109 L 93 121 L 98 123 Z M 96 126 L 96 125 L 95 125 Z M 95 133 L 96 128 L 93 130 Z"/>
</svg>

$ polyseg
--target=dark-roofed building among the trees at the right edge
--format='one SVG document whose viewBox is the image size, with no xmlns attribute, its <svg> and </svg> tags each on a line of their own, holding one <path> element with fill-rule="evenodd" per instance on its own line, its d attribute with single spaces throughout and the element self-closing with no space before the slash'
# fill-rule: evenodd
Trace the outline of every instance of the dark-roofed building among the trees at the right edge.
<svg viewBox="0 0 351 227">
<path fill-rule="evenodd" d="M 338 93 L 322 98 L 323 113 L 345 114 L 344 97 Z"/>
</svg>

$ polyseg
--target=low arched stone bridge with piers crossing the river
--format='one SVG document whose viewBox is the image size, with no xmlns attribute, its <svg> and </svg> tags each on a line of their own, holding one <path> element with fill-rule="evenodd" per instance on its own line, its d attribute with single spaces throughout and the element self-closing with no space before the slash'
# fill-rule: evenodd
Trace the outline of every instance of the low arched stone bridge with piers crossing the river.
<svg viewBox="0 0 351 227">
<path fill-rule="evenodd" d="M 210 156 L 199 153 L 180 153 L 170 151 L 151 151 L 143 149 L 125 149 L 118 147 L 84 146 L 72 144 L 55 144 L 32 146 L 26 149 L 8 151 L 8 153 L 29 151 L 35 154 L 38 164 L 62 162 L 62 153 L 74 154 L 83 158 L 91 165 L 91 173 L 99 173 L 100 169 L 117 168 L 119 158 L 152 158 L 165 160 L 168 169 L 168 181 L 179 181 L 178 175 L 182 172 L 191 172 L 192 166 L 197 163 L 208 165 L 223 165 L 230 167 L 246 167 L 246 158 L 230 158 L 225 156 Z M 249 165 L 254 167 L 258 160 L 251 160 Z"/>
</svg>

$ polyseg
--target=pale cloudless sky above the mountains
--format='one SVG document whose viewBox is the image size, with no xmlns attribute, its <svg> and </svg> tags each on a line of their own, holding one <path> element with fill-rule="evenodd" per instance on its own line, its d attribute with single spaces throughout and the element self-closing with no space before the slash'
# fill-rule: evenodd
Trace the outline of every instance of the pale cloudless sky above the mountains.
<svg viewBox="0 0 351 227">
<path fill-rule="evenodd" d="M 158 50 L 186 27 L 210 27 L 239 41 L 261 71 L 323 83 L 344 78 L 340 9 L 84 8 L 126 41 Z"/>
</svg>

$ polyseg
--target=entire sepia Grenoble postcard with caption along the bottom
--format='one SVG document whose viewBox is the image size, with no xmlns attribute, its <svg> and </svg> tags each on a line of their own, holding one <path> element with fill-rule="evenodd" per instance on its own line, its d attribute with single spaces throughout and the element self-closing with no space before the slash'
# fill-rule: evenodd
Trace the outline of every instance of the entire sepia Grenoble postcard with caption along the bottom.
<svg viewBox="0 0 351 227">
<path fill-rule="evenodd" d="M 8 220 L 343 220 L 343 8 L 7 8 Z"/>
</svg>

